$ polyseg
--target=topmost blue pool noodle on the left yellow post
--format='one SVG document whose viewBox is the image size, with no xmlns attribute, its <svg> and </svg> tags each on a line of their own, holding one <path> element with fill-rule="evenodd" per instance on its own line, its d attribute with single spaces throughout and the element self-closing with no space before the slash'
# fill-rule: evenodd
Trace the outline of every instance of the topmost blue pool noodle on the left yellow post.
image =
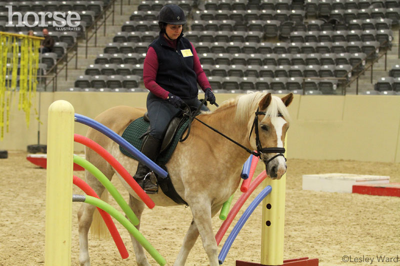
<svg viewBox="0 0 400 266">
<path fill-rule="evenodd" d="M 129 151 L 130 154 L 132 154 L 135 158 L 140 160 L 144 165 L 153 170 L 160 177 L 165 178 L 168 175 L 168 173 L 165 170 L 163 170 L 156 163 L 148 159 L 144 154 L 142 154 L 139 150 L 133 147 L 129 142 L 127 142 L 125 139 L 123 139 L 121 136 L 119 136 L 118 134 L 116 134 L 114 131 L 104 126 L 103 124 L 80 114 L 75 114 L 75 121 L 84 124 L 86 126 L 89 126 L 91 128 L 94 128 L 95 130 L 98 130 L 99 132 L 103 133 L 105 136 L 109 137 L 110 139 L 121 145 L 125 150 Z"/>
</svg>

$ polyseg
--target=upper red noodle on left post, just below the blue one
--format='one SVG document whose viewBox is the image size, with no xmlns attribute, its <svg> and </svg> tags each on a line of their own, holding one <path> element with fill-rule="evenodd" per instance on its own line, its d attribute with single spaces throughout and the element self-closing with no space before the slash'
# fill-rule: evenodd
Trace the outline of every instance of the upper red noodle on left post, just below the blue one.
<svg viewBox="0 0 400 266">
<path fill-rule="evenodd" d="M 96 142 L 88 139 L 79 134 L 73 134 L 73 140 L 80 144 L 83 144 L 96 153 L 98 153 L 101 157 L 104 158 L 120 175 L 121 177 L 128 183 L 128 185 L 133 189 L 133 191 L 140 197 L 140 199 L 147 205 L 148 208 L 154 208 L 154 202 L 148 197 L 148 195 L 143 191 L 143 189 L 134 181 L 132 176 L 126 171 L 126 169 L 114 158 L 109 152 L 107 152 L 103 147 L 98 145 Z"/>
</svg>

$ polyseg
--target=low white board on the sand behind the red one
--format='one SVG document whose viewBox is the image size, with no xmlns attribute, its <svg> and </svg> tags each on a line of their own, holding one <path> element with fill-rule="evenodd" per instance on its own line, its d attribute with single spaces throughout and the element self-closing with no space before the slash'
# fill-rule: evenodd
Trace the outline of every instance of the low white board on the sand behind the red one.
<svg viewBox="0 0 400 266">
<path fill-rule="evenodd" d="M 303 175 L 302 189 L 324 192 L 351 193 L 353 185 L 389 183 L 388 176 L 355 174 Z"/>
</svg>

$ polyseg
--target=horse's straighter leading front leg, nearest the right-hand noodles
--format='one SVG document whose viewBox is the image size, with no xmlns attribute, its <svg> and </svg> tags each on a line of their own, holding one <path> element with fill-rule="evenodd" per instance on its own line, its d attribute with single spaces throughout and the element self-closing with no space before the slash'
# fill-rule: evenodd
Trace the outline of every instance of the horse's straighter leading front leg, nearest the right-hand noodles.
<svg viewBox="0 0 400 266">
<path fill-rule="evenodd" d="M 198 197 L 189 203 L 193 221 L 200 234 L 203 248 L 208 256 L 210 266 L 218 266 L 218 247 L 216 245 L 211 223 L 211 203 L 208 198 Z"/>
</svg>

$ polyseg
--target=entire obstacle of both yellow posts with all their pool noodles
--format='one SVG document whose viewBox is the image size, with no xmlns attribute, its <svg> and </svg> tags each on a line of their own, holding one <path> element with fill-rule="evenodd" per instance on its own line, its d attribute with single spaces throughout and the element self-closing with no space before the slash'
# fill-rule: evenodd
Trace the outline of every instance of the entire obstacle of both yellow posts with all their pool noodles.
<svg viewBox="0 0 400 266">
<path fill-rule="evenodd" d="M 72 182 L 70 181 L 70 177 L 72 176 L 72 167 L 73 162 L 78 163 L 81 166 L 85 166 L 85 168 L 90 171 L 96 178 L 101 178 L 102 173 L 100 171 L 96 171 L 96 168 L 92 166 L 89 162 L 85 161 L 78 156 L 71 156 L 73 153 L 73 140 L 75 142 L 86 145 L 87 147 L 96 151 L 99 155 L 101 155 L 108 163 L 110 163 L 117 172 L 125 179 L 125 181 L 130 185 L 130 187 L 139 195 L 144 203 L 149 207 L 154 207 L 154 203 L 148 198 L 148 196 L 144 192 L 140 192 L 139 186 L 134 184 L 135 182 L 131 182 L 130 175 L 126 172 L 126 170 L 113 158 L 107 151 L 105 151 L 101 146 L 99 146 L 94 141 L 91 141 L 80 135 L 73 135 L 73 121 L 83 123 L 88 125 L 104 135 L 110 137 L 112 140 L 124 146 L 124 148 L 130 151 L 136 158 L 139 158 L 143 161 L 147 166 L 152 168 L 155 172 L 157 172 L 161 176 L 166 176 L 166 172 L 159 168 L 156 164 L 154 164 L 151 160 L 141 154 L 137 149 L 128 144 L 124 139 L 122 139 L 119 135 L 106 128 L 102 124 L 87 118 L 82 115 L 74 114 L 73 107 L 70 103 L 60 100 L 56 101 L 50 105 L 48 109 L 48 140 L 47 144 L 49 148 L 47 149 L 48 157 L 51 158 L 47 161 L 47 174 L 46 174 L 46 237 L 45 237 L 45 265 L 69 265 L 70 262 L 70 239 L 71 239 L 71 201 L 70 197 L 72 196 Z M 61 132 L 60 132 L 61 131 Z M 73 136 L 73 137 L 71 137 Z M 65 152 L 66 151 L 66 152 Z M 254 191 L 254 189 L 266 178 L 266 173 L 263 171 L 251 184 L 251 178 L 255 171 L 255 167 L 257 164 L 257 160 L 253 156 L 250 156 L 246 163 L 243 166 L 242 177 L 244 176 L 246 179 L 241 186 L 241 191 L 245 192 L 236 204 L 233 206 L 232 210 L 227 215 L 226 220 L 222 224 L 221 228 L 218 230 L 218 233 L 215 236 L 217 244 L 219 245 L 220 240 L 225 234 L 227 228 L 232 222 L 233 218 L 236 216 L 240 207 L 244 204 L 249 195 Z M 65 171 L 64 171 L 65 170 Z M 55 178 L 57 177 L 57 179 Z M 59 182 L 59 178 L 62 177 L 62 182 Z M 99 179 L 99 180 L 100 180 Z M 105 178 L 106 179 L 106 178 Z M 107 180 L 108 181 L 108 180 Z M 263 206 L 266 208 L 262 211 L 262 219 L 265 221 L 265 226 L 269 227 L 270 230 L 264 229 L 262 227 L 262 242 L 261 242 L 261 264 L 250 264 L 245 262 L 236 261 L 236 266 L 249 266 L 249 265 L 308 265 L 308 266 L 317 266 L 318 260 L 307 260 L 308 258 L 291 260 L 289 263 L 283 262 L 283 225 L 284 225 L 284 187 L 285 187 L 285 175 L 282 177 L 281 181 L 278 180 L 270 180 L 267 179 L 265 181 L 265 189 L 255 198 L 255 200 L 250 204 L 247 208 L 243 216 L 239 219 L 239 222 L 236 224 L 234 229 L 232 230 L 231 235 L 228 236 L 224 247 L 221 250 L 218 259 L 220 263 L 223 262 L 226 254 L 234 240 L 240 231 L 241 227 L 244 225 L 249 215 L 255 209 L 255 207 L 259 204 L 261 199 L 266 196 L 270 196 L 271 187 L 270 183 L 276 182 L 273 185 L 276 190 L 273 197 L 268 199 L 269 202 L 274 202 L 277 204 L 266 203 L 265 199 L 263 200 Z M 101 181 L 100 181 L 101 182 Z M 158 254 L 158 252 L 151 247 L 151 245 L 144 239 L 144 237 L 137 231 L 135 232 L 135 228 L 132 225 L 137 223 L 136 217 L 133 213 L 129 213 L 126 210 L 125 214 L 131 220 L 130 223 L 126 218 L 124 218 L 119 212 L 113 209 L 111 206 L 105 204 L 101 200 L 98 199 L 98 196 L 93 194 L 90 191 L 90 187 L 77 177 L 73 177 L 73 183 L 80 187 L 88 196 L 83 195 L 75 195 L 73 197 L 74 201 L 81 201 L 90 203 L 97 208 L 104 209 L 106 212 L 103 212 L 102 217 L 106 222 L 106 225 L 113 237 L 113 240 L 120 252 L 121 257 L 127 258 L 128 254 L 126 248 L 124 247 L 118 232 L 116 231 L 115 225 L 113 225 L 112 220 L 110 219 L 110 214 L 117 219 L 121 224 L 131 233 L 135 238 L 137 238 L 139 243 L 142 243 L 143 247 L 150 253 L 150 255 L 156 260 L 159 265 L 165 265 L 165 260 Z M 102 182 L 103 183 L 103 182 Z M 61 185 L 62 184 L 62 185 Z M 109 184 L 105 181 L 103 183 L 105 187 L 108 189 Z M 112 186 L 112 185 L 111 185 Z M 65 193 L 70 192 L 70 193 Z M 112 191 L 112 188 L 111 188 Z M 141 190 L 142 191 L 142 190 Z M 90 194 L 89 194 L 90 193 Z M 118 192 L 115 191 L 111 194 L 114 194 L 113 197 L 118 198 Z M 144 195 L 143 195 L 144 194 Z M 269 194 L 269 195 L 268 195 Z M 59 197 L 62 195 L 62 197 Z M 90 196 L 91 195 L 91 196 Z M 97 197 L 96 197 L 97 196 Z M 148 199 L 146 199 L 146 197 Z M 149 201 L 147 201 L 149 200 Z M 117 200 L 118 202 L 118 200 Z M 58 212 L 59 206 L 66 208 L 64 210 L 69 210 L 69 212 Z M 125 211 L 124 203 L 118 202 L 121 208 Z M 271 208 L 271 206 L 276 206 L 275 208 Z M 283 206 L 283 208 L 278 207 Z M 272 209 L 273 212 L 265 211 L 265 209 Z M 128 215 L 129 214 L 129 215 Z M 276 216 L 277 215 L 277 216 Z M 58 224 L 55 222 L 57 221 Z M 62 221 L 59 223 L 59 221 Z M 273 225 L 273 226 L 271 226 Z M 61 229 L 61 230 L 60 230 Z M 272 233 L 271 233 L 272 232 Z M 51 235 L 50 235 L 51 234 Z M 266 237 L 264 237 L 266 236 Z M 316 263 L 315 263 L 316 260 Z M 298 263 L 298 264 L 297 264 Z M 304 264 L 305 263 L 305 264 Z"/>
</svg>

